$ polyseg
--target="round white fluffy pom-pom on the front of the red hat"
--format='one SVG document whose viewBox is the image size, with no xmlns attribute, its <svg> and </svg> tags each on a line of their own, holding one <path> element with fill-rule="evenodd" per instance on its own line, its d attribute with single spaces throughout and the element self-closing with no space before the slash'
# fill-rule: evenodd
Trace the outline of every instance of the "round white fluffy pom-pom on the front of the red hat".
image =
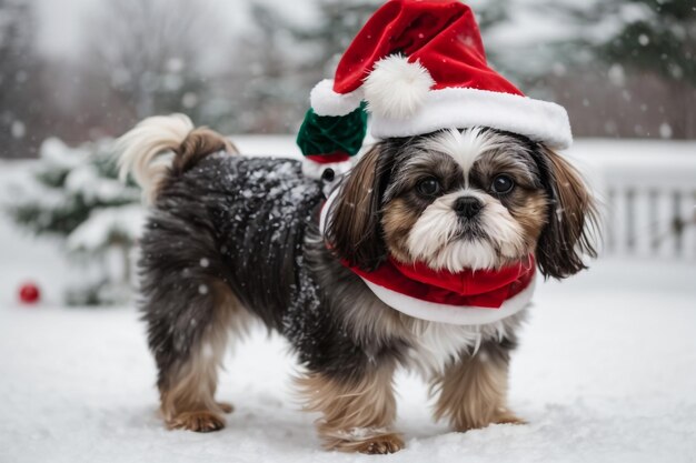
<svg viewBox="0 0 696 463">
<path fill-rule="evenodd" d="M 435 81 L 418 61 L 392 54 L 375 63 L 362 89 L 368 110 L 389 119 L 408 119 L 422 105 Z"/>
</svg>

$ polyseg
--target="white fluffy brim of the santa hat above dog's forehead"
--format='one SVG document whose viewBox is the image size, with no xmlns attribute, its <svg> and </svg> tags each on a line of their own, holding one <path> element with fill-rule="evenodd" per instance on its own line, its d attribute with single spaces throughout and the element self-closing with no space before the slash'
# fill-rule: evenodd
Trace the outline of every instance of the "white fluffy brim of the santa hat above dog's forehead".
<svg viewBox="0 0 696 463">
<path fill-rule="evenodd" d="M 556 149 L 565 149 L 573 143 L 568 113 L 561 105 L 465 88 L 429 91 L 420 109 L 406 120 L 375 114 L 370 132 L 380 140 L 475 125 L 518 133 Z"/>
</svg>

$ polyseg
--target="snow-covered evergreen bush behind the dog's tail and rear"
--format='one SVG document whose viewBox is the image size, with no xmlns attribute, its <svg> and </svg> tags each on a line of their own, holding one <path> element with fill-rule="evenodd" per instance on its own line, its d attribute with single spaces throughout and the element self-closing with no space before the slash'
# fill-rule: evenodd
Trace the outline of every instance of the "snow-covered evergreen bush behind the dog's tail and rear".
<svg viewBox="0 0 696 463">
<path fill-rule="evenodd" d="M 6 208 L 22 228 L 58 236 L 80 284 L 72 305 L 122 302 L 129 294 L 131 253 L 142 223 L 140 190 L 117 179 L 111 140 L 69 148 L 48 139 L 28 178 L 9 188 Z"/>
</svg>

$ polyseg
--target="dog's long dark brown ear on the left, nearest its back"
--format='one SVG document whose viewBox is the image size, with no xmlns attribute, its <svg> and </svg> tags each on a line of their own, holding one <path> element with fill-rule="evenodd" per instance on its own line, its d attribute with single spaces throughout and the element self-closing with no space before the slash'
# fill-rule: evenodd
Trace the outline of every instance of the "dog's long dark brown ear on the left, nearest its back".
<svg viewBox="0 0 696 463">
<path fill-rule="evenodd" d="M 362 155 L 338 187 L 326 240 L 339 259 L 375 270 L 387 258 L 381 231 L 381 197 L 394 164 L 392 150 L 378 143 Z"/>
</svg>

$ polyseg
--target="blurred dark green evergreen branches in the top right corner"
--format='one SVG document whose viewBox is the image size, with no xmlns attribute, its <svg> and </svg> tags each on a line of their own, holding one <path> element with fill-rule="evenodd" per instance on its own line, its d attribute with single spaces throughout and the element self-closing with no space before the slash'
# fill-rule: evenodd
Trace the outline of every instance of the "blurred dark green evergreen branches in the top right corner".
<svg viewBox="0 0 696 463">
<path fill-rule="evenodd" d="M 567 11 L 587 29 L 578 42 L 614 70 L 608 72 L 610 80 L 630 83 L 654 76 L 664 82 L 668 98 L 660 105 L 669 124 L 662 124 L 663 137 L 696 137 L 693 0 L 605 0 Z"/>
</svg>

